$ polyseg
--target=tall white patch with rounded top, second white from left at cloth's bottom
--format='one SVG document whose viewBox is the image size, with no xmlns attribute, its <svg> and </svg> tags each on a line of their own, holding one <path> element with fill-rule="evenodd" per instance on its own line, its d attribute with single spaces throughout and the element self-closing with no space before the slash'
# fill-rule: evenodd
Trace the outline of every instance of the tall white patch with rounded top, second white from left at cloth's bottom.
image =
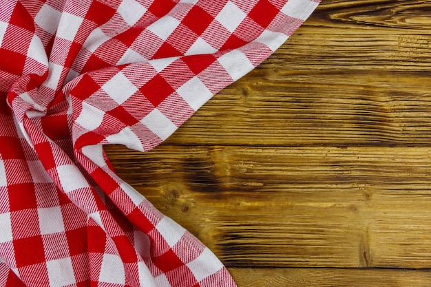
<svg viewBox="0 0 431 287">
<path fill-rule="evenodd" d="M 104 254 L 98 281 L 110 284 L 125 284 L 125 271 L 121 258 L 117 255 Z"/>
</svg>

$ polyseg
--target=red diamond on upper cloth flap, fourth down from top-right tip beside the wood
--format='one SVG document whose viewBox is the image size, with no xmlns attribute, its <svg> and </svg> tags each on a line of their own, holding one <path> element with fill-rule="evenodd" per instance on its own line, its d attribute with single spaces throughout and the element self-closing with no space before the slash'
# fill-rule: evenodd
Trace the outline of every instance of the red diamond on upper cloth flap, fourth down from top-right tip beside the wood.
<svg viewBox="0 0 431 287">
<path fill-rule="evenodd" d="M 145 83 L 139 90 L 154 107 L 157 107 L 167 96 L 174 92 L 174 88 L 172 88 L 160 74 L 151 78 L 151 80 Z"/>
</svg>

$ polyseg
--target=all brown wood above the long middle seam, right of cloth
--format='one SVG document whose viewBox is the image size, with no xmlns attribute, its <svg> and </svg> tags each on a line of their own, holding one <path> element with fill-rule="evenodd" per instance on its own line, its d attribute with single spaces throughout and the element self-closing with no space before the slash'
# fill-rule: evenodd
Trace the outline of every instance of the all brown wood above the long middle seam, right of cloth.
<svg viewBox="0 0 431 287">
<path fill-rule="evenodd" d="M 431 2 L 323 2 L 168 142 L 430 146 Z"/>
</svg>

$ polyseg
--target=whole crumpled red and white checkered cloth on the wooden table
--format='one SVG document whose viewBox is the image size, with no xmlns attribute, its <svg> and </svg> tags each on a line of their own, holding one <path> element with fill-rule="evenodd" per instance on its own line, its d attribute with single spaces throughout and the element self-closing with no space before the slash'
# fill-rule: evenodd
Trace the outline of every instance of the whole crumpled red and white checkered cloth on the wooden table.
<svg viewBox="0 0 431 287">
<path fill-rule="evenodd" d="M 318 2 L 3 1 L 0 285 L 235 286 L 103 145 L 160 144 Z"/>
</svg>

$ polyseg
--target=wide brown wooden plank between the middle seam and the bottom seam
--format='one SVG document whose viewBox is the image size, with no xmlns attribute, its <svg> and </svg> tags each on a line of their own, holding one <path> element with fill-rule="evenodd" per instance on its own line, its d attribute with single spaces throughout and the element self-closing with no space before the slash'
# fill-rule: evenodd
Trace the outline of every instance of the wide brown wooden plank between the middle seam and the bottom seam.
<svg viewBox="0 0 431 287">
<path fill-rule="evenodd" d="M 227 266 L 431 268 L 428 147 L 109 147 Z"/>
</svg>

